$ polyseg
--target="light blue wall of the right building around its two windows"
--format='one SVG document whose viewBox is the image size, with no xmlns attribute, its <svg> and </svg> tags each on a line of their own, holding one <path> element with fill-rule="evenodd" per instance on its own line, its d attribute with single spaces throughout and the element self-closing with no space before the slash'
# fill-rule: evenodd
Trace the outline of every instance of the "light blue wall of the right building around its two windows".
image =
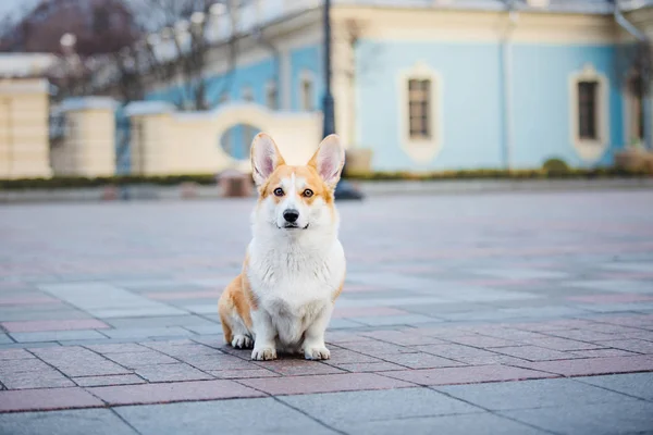
<svg viewBox="0 0 653 435">
<path fill-rule="evenodd" d="M 614 48 L 535 46 L 513 48 L 513 163 L 540 167 L 551 157 L 583 162 L 571 145 L 569 76 L 591 63 L 611 83 L 611 150 L 621 145 L 621 96 L 615 86 Z M 442 79 L 442 147 L 429 162 L 415 162 L 401 148 L 399 78 L 418 61 Z M 374 151 L 373 169 L 454 170 L 504 167 L 502 47 L 361 40 L 356 51 L 358 142 Z M 373 67 L 369 67 L 373 63 Z M 599 163 L 612 161 L 612 152 Z"/>
</svg>

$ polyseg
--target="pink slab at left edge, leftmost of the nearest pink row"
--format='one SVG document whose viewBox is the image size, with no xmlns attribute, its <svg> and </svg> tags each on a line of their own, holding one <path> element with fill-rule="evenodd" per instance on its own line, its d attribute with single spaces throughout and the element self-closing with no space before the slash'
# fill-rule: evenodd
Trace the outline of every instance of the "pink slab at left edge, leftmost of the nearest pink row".
<svg viewBox="0 0 653 435">
<path fill-rule="evenodd" d="M 50 411 L 103 407 L 101 400 L 82 388 L 41 388 L 0 391 L 0 412 Z"/>
</svg>

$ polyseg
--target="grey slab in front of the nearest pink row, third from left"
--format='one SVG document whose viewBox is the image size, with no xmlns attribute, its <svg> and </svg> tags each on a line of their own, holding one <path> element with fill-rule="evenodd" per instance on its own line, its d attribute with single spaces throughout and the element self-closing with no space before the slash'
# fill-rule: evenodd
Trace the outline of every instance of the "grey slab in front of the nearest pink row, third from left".
<svg viewBox="0 0 653 435">
<path fill-rule="evenodd" d="M 350 422 L 483 412 L 428 388 L 283 396 L 280 400 L 342 430 Z"/>
</svg>

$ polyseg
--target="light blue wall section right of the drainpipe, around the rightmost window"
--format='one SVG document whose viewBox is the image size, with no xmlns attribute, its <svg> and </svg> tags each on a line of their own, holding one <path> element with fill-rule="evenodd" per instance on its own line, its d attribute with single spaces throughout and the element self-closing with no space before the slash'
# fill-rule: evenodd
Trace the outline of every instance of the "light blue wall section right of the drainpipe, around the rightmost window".
<svg viewBox="0 0 653 435">
<path fill-rule="evenodd" d="M 624 145 L 623 96 L 612 46 L 516 45 L 513 65 L 515 150 L 518 167 L 540 166 L 551 157 L 572 166 L 605 165 Z M 609 148 L 599 162 L 586 162 L 571 144 L 569 76 L 592 64 L 609 82 Z"/>
</svg>

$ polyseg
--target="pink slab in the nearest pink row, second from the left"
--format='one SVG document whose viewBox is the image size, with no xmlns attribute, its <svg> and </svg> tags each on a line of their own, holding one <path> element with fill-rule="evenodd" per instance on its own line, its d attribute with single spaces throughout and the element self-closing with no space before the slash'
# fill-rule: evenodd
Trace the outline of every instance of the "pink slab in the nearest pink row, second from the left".
<svg viewBox="0 0 653 435">
<path fill-rule="evenodd" d="M 226 380 L 91 387 L 87 390 L 111 406 L 264 396 L 260 391 Z"/>
</svg>

